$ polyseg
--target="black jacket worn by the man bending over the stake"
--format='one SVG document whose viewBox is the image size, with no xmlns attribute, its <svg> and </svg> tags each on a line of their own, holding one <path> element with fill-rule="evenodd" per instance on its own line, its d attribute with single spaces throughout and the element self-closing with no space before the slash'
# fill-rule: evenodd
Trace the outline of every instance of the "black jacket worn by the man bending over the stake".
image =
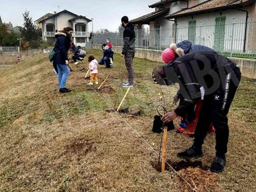
<svg viewBox="0 0 256 192">
<path fill-rule="evenodd" d="M 184 117 L 188 107 L 200 99 L 200 87 L 204 86 L 205 95 L 214 93 L 236 66 L 233 61 L 214 51 L 194 52 L 165 65 L 167 84 L 179 83 L 179 93 L 184 98 L 174 112 Z"/>
</svg>

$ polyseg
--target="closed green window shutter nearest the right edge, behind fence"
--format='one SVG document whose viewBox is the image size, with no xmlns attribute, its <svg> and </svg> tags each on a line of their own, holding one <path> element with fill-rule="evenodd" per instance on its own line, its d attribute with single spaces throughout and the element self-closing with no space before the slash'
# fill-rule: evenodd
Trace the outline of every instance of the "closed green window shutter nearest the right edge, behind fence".
<svg viewBox="0 0 256 192">
<path fill-rule="evenodd" d="M 216 51 L 224 51 L 226 20 L 226 17 L 215 18 L 214 49 Z"/>
</svg>

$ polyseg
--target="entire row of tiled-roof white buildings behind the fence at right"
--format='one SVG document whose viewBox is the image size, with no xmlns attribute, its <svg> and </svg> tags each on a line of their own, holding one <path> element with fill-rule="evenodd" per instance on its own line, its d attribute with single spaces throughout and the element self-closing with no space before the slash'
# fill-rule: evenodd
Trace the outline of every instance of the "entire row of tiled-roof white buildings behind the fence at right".
<svg viewBox="0 0 256 192">
<path fill-rule="evenodd" d="M 163 49 L 190 40 L 216 51 L 256 52 L 256 0 L 161 0 L 154 12 L 131 20 L 138 30 L 149 25 L 147 39 L 137 34 L 139 46 Z M 148 46 L 147 45 L 147 46 Z"/>
</svg>

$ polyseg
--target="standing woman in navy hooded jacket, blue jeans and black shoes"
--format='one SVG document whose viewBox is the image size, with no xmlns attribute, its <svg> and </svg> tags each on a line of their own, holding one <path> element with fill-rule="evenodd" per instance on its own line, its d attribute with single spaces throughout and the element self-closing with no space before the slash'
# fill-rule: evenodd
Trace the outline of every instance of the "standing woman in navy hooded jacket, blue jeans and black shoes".
<svg viewBox="0 0 256 192">
<path fill-rule="evenodd" d="M 71 27 L 66 27 L 63 31 L 55 33 L 55 46 L 54 51 L 57 52 L 54 56 L 53 65 L 54 68 L 58 69 L 58 82 L 60 92 L 70 92 L 71 89 L 66 88 L 66 80 L 69 76 L 69 60 L 68 60 L 68 50 L 71 46 L 71 37 L 73 34 L 73 29 Z"/>
</svg>

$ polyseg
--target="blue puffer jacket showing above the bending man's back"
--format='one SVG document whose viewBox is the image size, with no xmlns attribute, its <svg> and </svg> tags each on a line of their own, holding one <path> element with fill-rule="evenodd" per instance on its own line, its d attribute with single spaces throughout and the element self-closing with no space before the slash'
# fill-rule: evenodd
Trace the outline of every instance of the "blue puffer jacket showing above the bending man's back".
<svg viewBox="0 0 256 192">
<path fill-rule="evenodd" d="M 181 41 L 180 43 L 178 43 L 177 47 L 183 49 L 185 55 L 188 53 L 193 53 L 197 51 L 214 51 L 213 49 L 203 45 L 192 45 L 192 43 L 187 40 Z"/>
</svg>

